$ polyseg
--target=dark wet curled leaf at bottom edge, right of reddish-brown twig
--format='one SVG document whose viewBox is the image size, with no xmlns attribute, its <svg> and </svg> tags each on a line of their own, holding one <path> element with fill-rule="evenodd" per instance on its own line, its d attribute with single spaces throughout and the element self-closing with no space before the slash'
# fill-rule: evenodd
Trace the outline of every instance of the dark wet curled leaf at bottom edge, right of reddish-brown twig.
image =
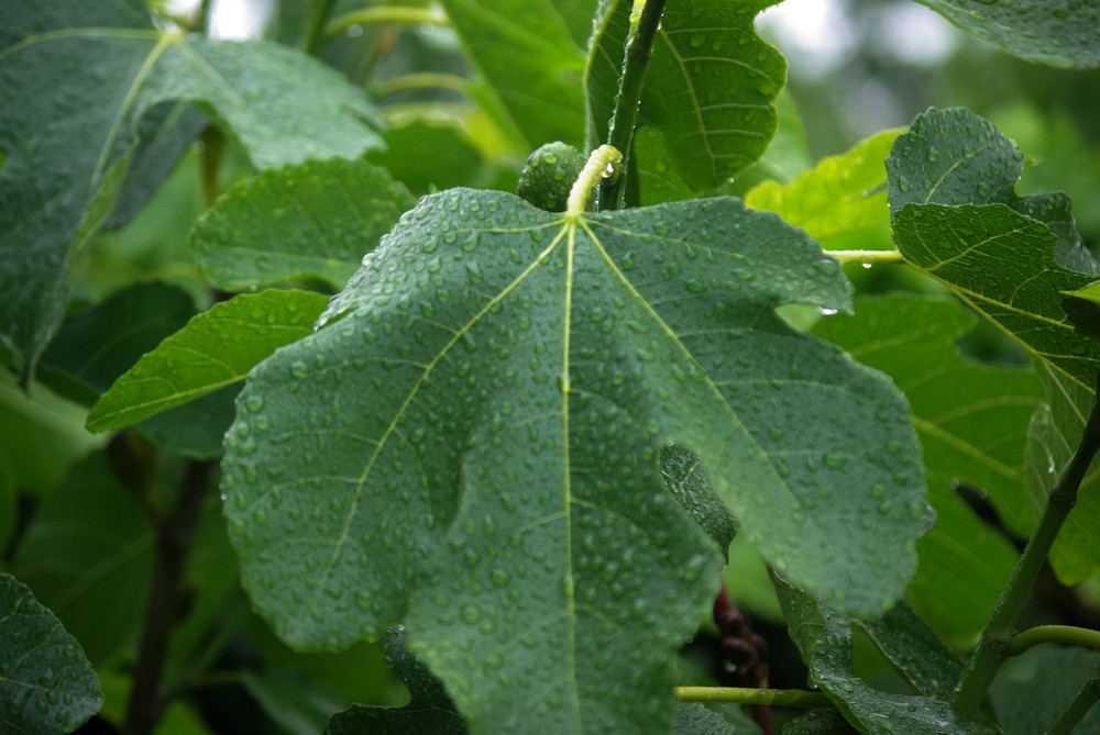
<svg viewBox="0 0 1100 735">
<path fill-rule="evenodd" d="M 853 637 L 848 620 L 820 606 L 799 590 L 777 581 L 777 592 L 783 605 L 791 639 L 810 668 L 811 683 L 821 687 L 844 717 L 861 733 L 875 735 L 996 735 L 1000 730 L 985 722 L 964 722 L 955 716 L 946 699 L 930 695 L 893 694 L 871 687 L 853 671 Z M 889 628 L 883 628 L 888 632 Z M 933 639 L 935 637 L 933 636 Z M 904 641 L 908 645 L 912 639 Z M 897 642 L 888 642 L 894 646 Z M 920 641 L 917 641 L 920 643 Z M 942 648 L 943 643 L 937 648 Z M 876 642 L 882 645 L 881 641 Z M 906 652 L 919 656 L 917 650 Z M 941 660 L 934 654 L 930 662 Z M 947 664 L 939 680 L 958 673 L 958 661 Z M 928 662 L 922 664 L 922 669 Z M 928 670 L 920 679 L 931 683 Z M 938 687 L 938 680 L 937 680 Z M 829 727 L 834 727 L 833 724 Z M 795 732 L 814 732 L 795 731 Z M 831 732 L 831 731 L 826 731 Z"/>
</svg>

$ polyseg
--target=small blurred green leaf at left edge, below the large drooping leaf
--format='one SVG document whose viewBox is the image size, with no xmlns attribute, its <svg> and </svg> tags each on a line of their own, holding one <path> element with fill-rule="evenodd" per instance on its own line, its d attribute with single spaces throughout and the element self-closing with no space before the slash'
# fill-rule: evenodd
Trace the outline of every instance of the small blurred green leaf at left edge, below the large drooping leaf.
<svg viewBox="0 0 1100 735">
<path fill-rule="evenodd" d="M 0 370 L 0 465 L 15 487 L 45 493 L 73 463 L 103 445 L 84 428 L 87 410 L 35 385 L 28 397 Z"/>
</svg>

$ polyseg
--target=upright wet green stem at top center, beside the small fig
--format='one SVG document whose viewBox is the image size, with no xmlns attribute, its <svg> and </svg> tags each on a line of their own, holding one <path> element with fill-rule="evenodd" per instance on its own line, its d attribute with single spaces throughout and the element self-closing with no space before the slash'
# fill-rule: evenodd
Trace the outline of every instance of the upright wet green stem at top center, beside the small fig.
<svg viewBox="0 0 1100 735">
<path fill-rule="evenodd" d="M 641 90 L 646 83 L 649 60 L 653 56 L 653 42 L 661 27 L 661 14 L 664 12 L 666 2 L 667 0 L 648 0 L 641 10 L 637 26 L 630 29 L 630 35 L 627 37 L 619 92 L 615 98 L 615 110 L 612 112 L 610 127 L 607 132 L 608 145 L 623 152 L 624 169 L 630 165 L 630 148 L 634 143 L 634 129 L 638 123 Z M 615 210 L 623 207 L 626 178 L 625 175 L 610 177 L 600 187 L 597 209 Z"/>
</svg>

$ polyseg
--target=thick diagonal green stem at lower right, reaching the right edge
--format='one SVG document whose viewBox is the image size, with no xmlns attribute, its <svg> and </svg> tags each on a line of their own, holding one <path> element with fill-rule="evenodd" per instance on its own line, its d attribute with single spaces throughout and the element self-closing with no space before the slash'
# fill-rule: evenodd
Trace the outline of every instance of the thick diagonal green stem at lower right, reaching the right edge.
<svg viewBox="0 0 1100 735">
<path fill-rule="evenodd" d="M 960 717 L 967 720 L 974 717 L 993 678 L 1004 659 L 1009 657 L 1012 647 L 1012 626 L 1046 563 L 1050 546 L 1054 545 L 1063 523 L 1077 502 L 1077 490 L 1098 449 L 1100 449 L 1100 402 L 1094 402 L 1077 452 L 1054 483 L 1038 527 L 1027 542 L 978 641 L 978 647 L 971 654 L 963 670 L 963 677 L 952 692 L 952 705 Z"/>
</svg>

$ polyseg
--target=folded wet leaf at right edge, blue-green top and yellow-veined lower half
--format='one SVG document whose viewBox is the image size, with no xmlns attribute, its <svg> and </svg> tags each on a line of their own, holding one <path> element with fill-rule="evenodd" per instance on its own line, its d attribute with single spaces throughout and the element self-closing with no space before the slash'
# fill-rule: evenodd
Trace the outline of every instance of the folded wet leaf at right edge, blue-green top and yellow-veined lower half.
<svg viewBox="0 0 1100 735">
<path fill-rule="evenodd" d="M 919 115 L 887 159 L 894 241 L 910 265 L 1092 390 L 1100 342 L 1075 331 L 1062 302 L 1100 267 L 1065 194 L 1015 194 L 1022 166 L 1015 144 L 968 110 Z"/>
</svg>

